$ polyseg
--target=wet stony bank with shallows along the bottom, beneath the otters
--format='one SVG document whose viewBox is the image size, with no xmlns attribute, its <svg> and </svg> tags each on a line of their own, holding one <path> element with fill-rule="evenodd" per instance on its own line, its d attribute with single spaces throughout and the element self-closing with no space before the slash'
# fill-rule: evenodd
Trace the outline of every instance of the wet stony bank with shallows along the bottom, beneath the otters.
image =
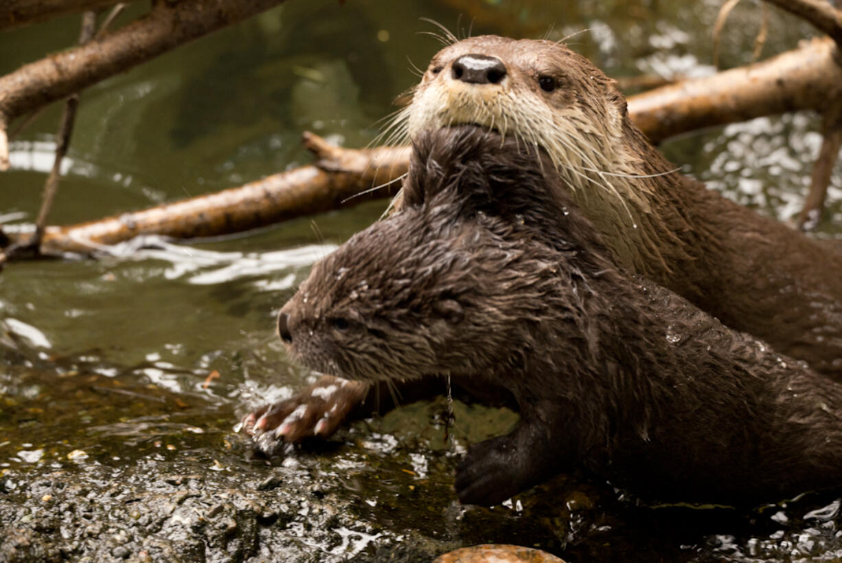
<svg viewBox="0 0 842 563">
<path fill-rule="evenodd" d="M 269 461 L 212 395 L 22 365 L 0 388 L 0 560 L 423 561 L 482 543 L 568 561 L 842 555 L 832 493 L 750 512 L 647 507 L 562 475 L 507 506 L 460 507 L 459 455 L 504 432 L 505 410 L 457 402 L 452 448 L 438 399 Z"/>
</svg>

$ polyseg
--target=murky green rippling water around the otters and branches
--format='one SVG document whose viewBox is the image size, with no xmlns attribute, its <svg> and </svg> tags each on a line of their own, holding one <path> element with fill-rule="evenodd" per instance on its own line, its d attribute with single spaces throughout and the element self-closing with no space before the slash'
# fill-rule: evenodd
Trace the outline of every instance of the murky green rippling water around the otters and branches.
<svg viewBox="0 0 842 563">
<path fill-rule="evenodd" d="M 472 4 L 482 6 L 473 17 L 465 13 Z M 472 27 L 475 35 L 559 38 L 588 29 L 570 43 L 615 76 L 711 72 L 712 0 L 533 4 L 289 0 L 125 72 L 83 94 L 52 222 L 195 196 L 304 164 L 303 130 L 365 146 L 394 110 L 392 99 L 416 81 L 412 66 L 425 67 L 439 47 L 422 17 Z M 725 65 L 749 60 L 759 9 L 745 4 L 723 36 Z M 122 20 L 143 9 L 131 8 Z M 812 33 L 773 15 L 765 54 Z M 77 25 L 67 17 L 0 33 L 0 73 L 72 44 Z M 33 220 L 60 111 L 46 110 L 14 140 L 13 170 L 0 174 L 3 222 Z M 761 119 L 663 148 L 734 199 L 786 219 L 800 209 L 809 181 L 816 125 L 810 115 Z M 838 166 L 821 232 L 842 239 L 840 186 Z M 374 221 L 384 205 L 233 239 L 130 247 L 103 260 L 9 265 L 0 274 L 0 480 L 26 480 L 45 467 L 120 469 L 186 458 L 231 475 L 268 475 L 264 462 L 245 460 L 231 427 L 308 377 L 275 341 L 274 313 L 313 260 Z M 214 372 L 219 377 L 208 379 Z M 545 487 L 523 496 L 521 511 L 462 511 L 450 505 L 448 488 L 456 457 L 433 424 L 443 408 L 413 405 L 360 423 L 328 451 L 293 454 L 302 470 L 344 495 L 361 527 L 381 527 L 381 535 L 344 551 L 322 546 L 323 559 L 372 554 L 410 533 L 455 545 L 540 544 L 572 561 L 797 559 L 842 550 L 832 505 L 828 517 L 804 516 L 833 498 L 723 519 L 637 507 L 605 485 L 560 478 L 552 494 Z M 461 409 L 457 441 L 503 432 L 510 422 L 495 410 Z M 361 488 L 344 487 L 349 476 Z"/>
</svg>

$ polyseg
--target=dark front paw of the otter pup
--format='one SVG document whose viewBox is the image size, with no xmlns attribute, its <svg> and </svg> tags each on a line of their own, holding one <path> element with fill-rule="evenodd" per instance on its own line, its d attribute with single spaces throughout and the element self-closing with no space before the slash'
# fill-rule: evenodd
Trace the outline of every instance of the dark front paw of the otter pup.
<svg viewBox="0 0 842 563">
<path fill-rule="evenodd" d="M 520 492 L 514 448 L 507 436 L 472 446 L 456 469 L 456 495 L 462 504 L 490 507 Z"/>
</svg>

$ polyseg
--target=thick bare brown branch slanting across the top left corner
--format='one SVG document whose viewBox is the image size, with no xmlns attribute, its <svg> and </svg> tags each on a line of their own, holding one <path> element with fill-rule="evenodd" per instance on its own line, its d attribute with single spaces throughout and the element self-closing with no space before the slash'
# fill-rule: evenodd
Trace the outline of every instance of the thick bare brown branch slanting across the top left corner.
<svg viewBox="0 0 842 563">
<path fill-rule="evenodd" d="M 10 72 L 0 78 L 0 170 L 8 169 L 8 126 L 20 115 L 283 1 L 158 2 L 112 34 Z"/>
</svg>

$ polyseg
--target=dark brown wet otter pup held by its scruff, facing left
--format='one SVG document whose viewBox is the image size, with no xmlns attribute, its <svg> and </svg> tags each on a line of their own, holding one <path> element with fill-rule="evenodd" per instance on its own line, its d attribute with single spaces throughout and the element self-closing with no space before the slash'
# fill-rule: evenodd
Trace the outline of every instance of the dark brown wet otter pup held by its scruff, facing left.
<svg viewBox="0 0 842 563">
<path fill-rule="evenodd" d="M 661 501 L 755 503 L 842 484 L 842 386 L 627 277 L 552 168 L 473 126 L 416 139 L 402 210 L 317 262 L 281 309 L 307 367 L 503 387 L 463 503 L 584 465 Z"/>
</svg>

